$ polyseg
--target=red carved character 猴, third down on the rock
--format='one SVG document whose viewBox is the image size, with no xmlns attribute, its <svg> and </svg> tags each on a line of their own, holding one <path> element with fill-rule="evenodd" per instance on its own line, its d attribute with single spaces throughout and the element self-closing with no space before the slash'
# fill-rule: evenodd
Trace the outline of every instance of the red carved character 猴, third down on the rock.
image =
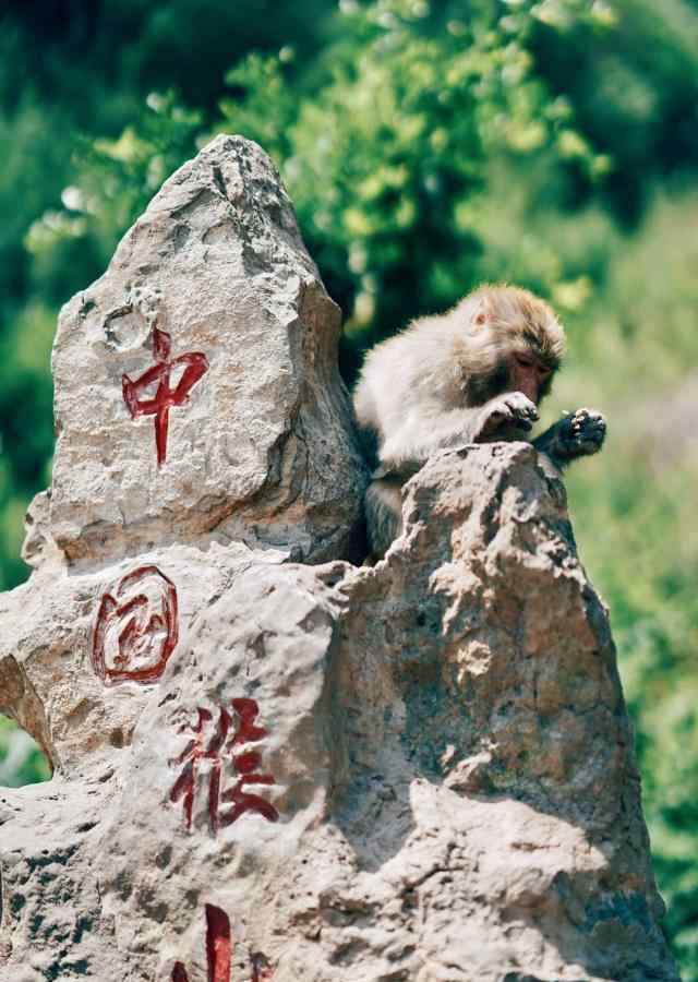
<svg viewBox="0 0 698 982">
<path fill-rule="evenodd" d="M 192 810 L 196 771 L 202 761 L 210 761 L 208 775 L 208 816 L 215 833 L 221 826 L 232 825 L 245 812 L 255 812 L 267 822 L 277 822 L 279 813 L 274 805 L 250 788 L 274 785 L 270 774 L 260 774 L 262 755 L 249 747 L 250 743 L 258 743 L 267 735 L 267 730 L 255 723 L 260 707 L 254 699 L 232 699 L 233 717 L 224 707 L 218 710 L 218 719 L 214 722 L 213 712 L 208 709 L 196 710 L 197 720 L 191 732 L 193 734 L 184 751 L 172 763 L 182 764 L 182 770 L 170 791 L 170 801 L 182 801 L 186 828 L 192 826 Z M 224 788 L 224 763 L 227 763 L 237 776 L 234 785 Z M 221 807 L 225 803 L 230 807 Z"/>
</svg>

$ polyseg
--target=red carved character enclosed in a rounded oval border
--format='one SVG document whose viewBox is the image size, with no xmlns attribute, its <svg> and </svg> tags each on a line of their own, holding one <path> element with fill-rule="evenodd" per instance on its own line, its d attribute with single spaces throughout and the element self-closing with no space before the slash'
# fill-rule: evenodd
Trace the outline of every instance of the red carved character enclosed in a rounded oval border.
<svg viewBox="0 0 698 982">
<path fill-rule="evenodd" d="M 155 682 L 178 637 L 174 584 L 157 566 L 140 566 L 101 598 L 93 633 L 92 663 L 108 685 Z"/>
</svg>

